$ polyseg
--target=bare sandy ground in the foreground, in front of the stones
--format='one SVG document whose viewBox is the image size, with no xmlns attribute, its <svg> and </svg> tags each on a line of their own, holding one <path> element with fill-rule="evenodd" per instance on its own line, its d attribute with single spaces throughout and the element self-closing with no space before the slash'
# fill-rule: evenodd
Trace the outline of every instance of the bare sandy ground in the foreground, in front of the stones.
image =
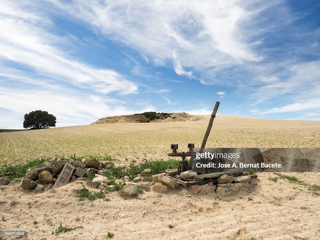
<svg viewBox="0 0 320 240">
<path fill-rule="evenodd" d="M 310 184 L 320 180 L 319 173 L 289 175 Z M 19 184 L 6 186 L 0 194 L 0 215 L 6 221 L 0 221 L 0 228 L 27 231 L 24 239 L 29 240 L 106 239 L 108 232 L 113 239 L 320 239 L 320 197 L 287 180 L 268 180 L 272 173 L 258 176 L 257 188 L 241 195 L 198 196 L 181 186 L 165 194 L 144 191 L 138 198 L 113 192 L 108 202 L 78 201 L 72 189 L 82 187 L 79 181 L 42 194 L 23 192 Z M 10 206 L 12 200 L 17 204 Z M 83 228 L 52 235 L 60 222 Z"/>
</svg>

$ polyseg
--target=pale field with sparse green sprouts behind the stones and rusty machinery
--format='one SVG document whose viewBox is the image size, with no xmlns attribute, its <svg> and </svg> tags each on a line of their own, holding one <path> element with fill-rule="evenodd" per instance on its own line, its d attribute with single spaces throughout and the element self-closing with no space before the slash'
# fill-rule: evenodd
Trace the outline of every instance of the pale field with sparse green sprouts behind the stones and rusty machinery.
<svg viewBox="0 0 320 240">
<path fill-rule="evenodd" d="M 168 159 L 170 144 L 200 147 L 200 121 L 116 123 L 0 133 L 0 164 L 41 156 L 112 156 L 121 161 Z M 207 147 L 320 147 L 320 122 L 217 116 Z"/>
</svg>

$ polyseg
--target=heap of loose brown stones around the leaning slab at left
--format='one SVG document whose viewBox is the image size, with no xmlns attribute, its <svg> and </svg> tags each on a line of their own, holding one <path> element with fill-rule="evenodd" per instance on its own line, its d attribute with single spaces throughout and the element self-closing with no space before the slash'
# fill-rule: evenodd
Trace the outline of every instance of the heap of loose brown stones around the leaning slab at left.
<svg viewBox="0 0 320 240">
<path fill-rule="evenodd" d="M 35 189 L 36 193 L 52 189 L 67 162 L 75 167 L 69 181 L 85 180 L 91 172 L 96 178 L 94 178 L 92 182 L 88 182 L 88 184 L 96 188 L 98 188 L 101 183 L 108 183 L 108 181 L 110 181 L 106 180 L 107 178 L 105 176 L 99 174 L 108 172 L 108 168 L 114 164 L 113 162 L 100 162 L 96 158 L 83 158 L 81 162 L 73 159 L 66 160 L 64 157 L 58 160 L 51 159 L 28 169 L 25 177 L 21 181 L 21 188 L 23 190 Z"/>
</svg>

